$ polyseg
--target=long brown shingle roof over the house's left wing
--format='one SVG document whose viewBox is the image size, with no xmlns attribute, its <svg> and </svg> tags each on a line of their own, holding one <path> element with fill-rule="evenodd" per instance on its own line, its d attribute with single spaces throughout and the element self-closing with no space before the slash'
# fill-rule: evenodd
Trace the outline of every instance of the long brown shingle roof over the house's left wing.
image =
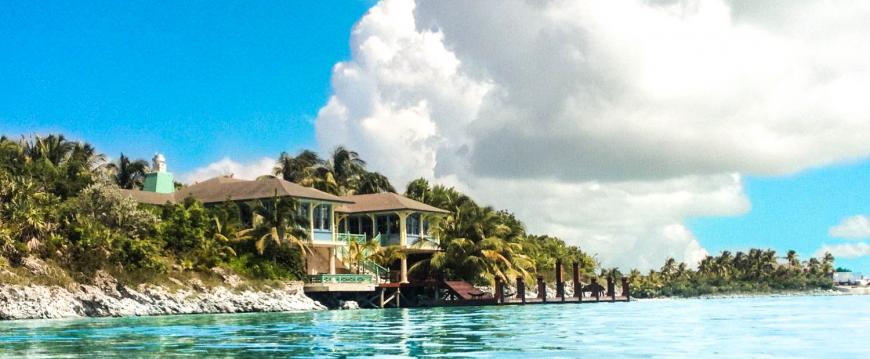
<svg viewBox="0 0 870 359">
<path fill-rule="evenodd" d="M 287 182 L 280 178 L 264 178 L 255 181 L 230 177 L 215 177 L 192 184 L 175 193 L 155 193 L 146 191 L 123 190 L 139 203 L 164 204 L 183 201 L 188 196 L 202 203 L 217 203 L 227 199 L 245 201 L 278 197 L 295 197 L 325 202 L 350 203 L 341 197 L 302 185 Z"/>
</svg>

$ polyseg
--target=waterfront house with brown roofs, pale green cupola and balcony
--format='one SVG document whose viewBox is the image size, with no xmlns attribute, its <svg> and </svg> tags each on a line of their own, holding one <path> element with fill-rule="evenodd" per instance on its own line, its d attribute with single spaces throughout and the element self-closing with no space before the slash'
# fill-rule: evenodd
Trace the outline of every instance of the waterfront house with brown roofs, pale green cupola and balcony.
<svg viewBox="0 0 870 359">
<path fill-rule="evenodd" d="M 163 205 L 192 197 L 210 206 L 228 200 L 268 201 L 275 196 L 296 199 L 300 214 L 308 218 L 312 249 L 306 258 L 306 290 L 373 290 L 379 281 L 407 283 L 409 258 L 437 251 L 438 240 L 430 233 L 430 223 L 448 213 L 395 193 L 336 196 L 274 177 L 242 180 L 221 176 L 176 191 L 164 157 L 155 155 L 153 162 L 155 171 L 146 175 L 143 190 L 123 190 L 139 203 Z M 363 273 L 350 273 L 345 260 L 348 245 L 370 239 L 378 239 L 383 246 L 399 246 L 407 254 L 399 260 L 396 276 L 389 276 L 386 268 L 372 262 L 360 264 Z"/>
</svg>

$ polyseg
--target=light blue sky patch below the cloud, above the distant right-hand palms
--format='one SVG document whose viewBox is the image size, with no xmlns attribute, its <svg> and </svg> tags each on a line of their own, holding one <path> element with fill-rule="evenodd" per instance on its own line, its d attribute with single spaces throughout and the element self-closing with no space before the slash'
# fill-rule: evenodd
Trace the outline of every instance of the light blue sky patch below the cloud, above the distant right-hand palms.
<svg viewBox="0 0 870 359">
<path fill-rule="evenodd" d="M 696 218 L 689 227 L 711 253 L 755 246 L 794 249 L 807 259 L 831 238 L 828 229 L 844 218 L 870 212 L 870 161 L 833 165 L 784 177 L 745 178 L 752 208 L 734 217 Z M 839 258 L 837 265 L 870 272 L 870 257 Z"/>
</svg>

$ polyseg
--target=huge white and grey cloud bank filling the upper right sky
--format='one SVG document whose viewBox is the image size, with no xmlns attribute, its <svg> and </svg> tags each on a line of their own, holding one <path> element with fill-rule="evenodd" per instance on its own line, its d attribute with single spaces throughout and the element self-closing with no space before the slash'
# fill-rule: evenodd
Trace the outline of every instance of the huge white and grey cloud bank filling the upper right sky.
<svg viewBox="0 0 870 359">
<path fill-rule="evenodd" d="M 316 119 L 399 186 L 649 268 L 744 213 L 742 173 L 870 155 L 870 2 L 384 0 Z"/>
</svg>

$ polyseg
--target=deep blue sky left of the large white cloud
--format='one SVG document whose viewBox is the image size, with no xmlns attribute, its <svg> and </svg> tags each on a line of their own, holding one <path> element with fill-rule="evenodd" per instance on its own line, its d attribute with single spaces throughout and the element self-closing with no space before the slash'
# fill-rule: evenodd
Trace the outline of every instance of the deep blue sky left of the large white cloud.
<svg viewBox="0 0 870 359">
<path fill-rule="evenodd" d="M 0 3 L 0 132 L 63 132 L 175 171 L 313 147 L 370 2 Z"/>
</svg>

